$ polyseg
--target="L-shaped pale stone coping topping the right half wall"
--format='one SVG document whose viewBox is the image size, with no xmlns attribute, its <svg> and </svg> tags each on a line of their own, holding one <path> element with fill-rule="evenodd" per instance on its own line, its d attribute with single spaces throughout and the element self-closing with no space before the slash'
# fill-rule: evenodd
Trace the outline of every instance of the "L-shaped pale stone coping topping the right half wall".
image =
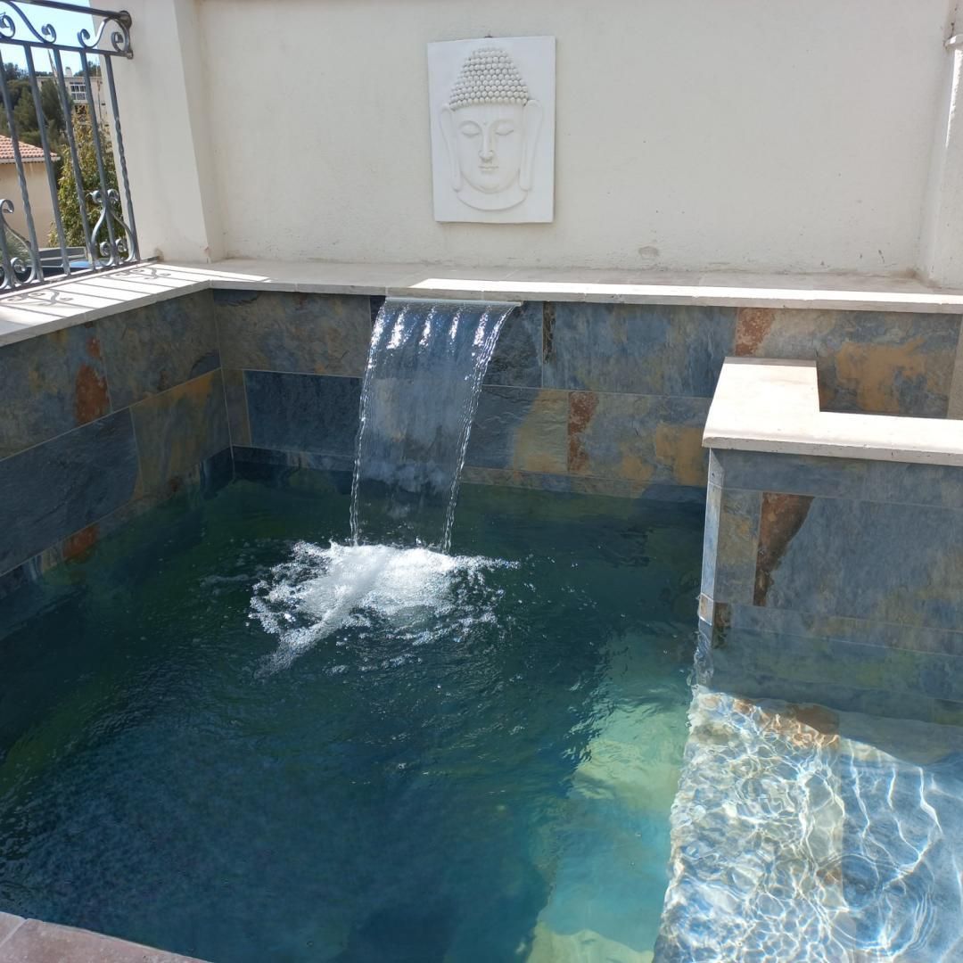
<svg viewBox="0 0 963 963">
<path fill-rule="evenodd" d="M 820 411 L 815 361 L 726 358 L 706 448 L 963 466 L 963 421 Z"/>
</svg>

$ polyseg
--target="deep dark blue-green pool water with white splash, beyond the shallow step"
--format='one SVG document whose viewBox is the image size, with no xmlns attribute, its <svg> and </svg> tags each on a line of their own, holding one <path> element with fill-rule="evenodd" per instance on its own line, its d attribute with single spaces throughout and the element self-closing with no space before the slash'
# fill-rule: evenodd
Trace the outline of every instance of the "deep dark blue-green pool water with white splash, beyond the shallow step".
<svg viewBox="0 0 963 963">
<path fill-rule="evenodd" d="M 230 963 L 650 958 L 701 511 L 465 486 L 450 557 L 348 524 L 236 481 L 0 607 L 0 910 Z"/>
</svg>

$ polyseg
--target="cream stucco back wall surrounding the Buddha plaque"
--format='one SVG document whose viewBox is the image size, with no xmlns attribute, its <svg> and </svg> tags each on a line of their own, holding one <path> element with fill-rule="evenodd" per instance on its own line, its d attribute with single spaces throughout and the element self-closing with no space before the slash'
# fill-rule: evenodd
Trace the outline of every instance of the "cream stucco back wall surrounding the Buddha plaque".
<svg viewBox="0 0 963 963">
<path fill-rule="evenodd" d="M 132 71 L 152 42 L 139 12 L 173 2 L 129 5 Z M 187 2 L 191 156 L 209 161 L 203 221 L 227 255 L 921 266 L 951 0 Z M 558 38 L 552 224 L 433 220 L 426 43 L 487 34 Z"/>
</svg>

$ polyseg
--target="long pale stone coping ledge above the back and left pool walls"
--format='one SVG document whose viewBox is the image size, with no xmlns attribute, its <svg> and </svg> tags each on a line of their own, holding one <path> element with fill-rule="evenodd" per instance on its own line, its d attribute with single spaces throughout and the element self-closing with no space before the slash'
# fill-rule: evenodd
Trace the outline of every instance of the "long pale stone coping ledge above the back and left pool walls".
<svg viewBox="0 0 963 963">
<path fill-rule="evenodd" d="M 226 260 L 147 262 L 0 298 L 0 345 L 208 287 L 408 298 L 595 301 L 963 314 L 963 291 L 853 274 L 655 273 Z"/>
</svg>

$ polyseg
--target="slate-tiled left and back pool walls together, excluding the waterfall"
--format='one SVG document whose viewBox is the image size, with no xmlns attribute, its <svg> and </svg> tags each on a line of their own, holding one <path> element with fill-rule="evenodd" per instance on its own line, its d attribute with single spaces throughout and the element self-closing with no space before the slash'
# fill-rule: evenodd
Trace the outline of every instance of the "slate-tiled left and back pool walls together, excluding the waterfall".
<svg viewBox="0 0 963 963">
<path fill-rule="evenodd" d="M 0 348 L 2 585 L 232 463 L 350 470 L 379 304 L 204 291 Z M 947 314 L 527 302 L 489 367 L 465 479 L 701 500 L 727 354 L 817 357 L 829 408 L 942 417 L 959 336 Z"/>
</svg>

